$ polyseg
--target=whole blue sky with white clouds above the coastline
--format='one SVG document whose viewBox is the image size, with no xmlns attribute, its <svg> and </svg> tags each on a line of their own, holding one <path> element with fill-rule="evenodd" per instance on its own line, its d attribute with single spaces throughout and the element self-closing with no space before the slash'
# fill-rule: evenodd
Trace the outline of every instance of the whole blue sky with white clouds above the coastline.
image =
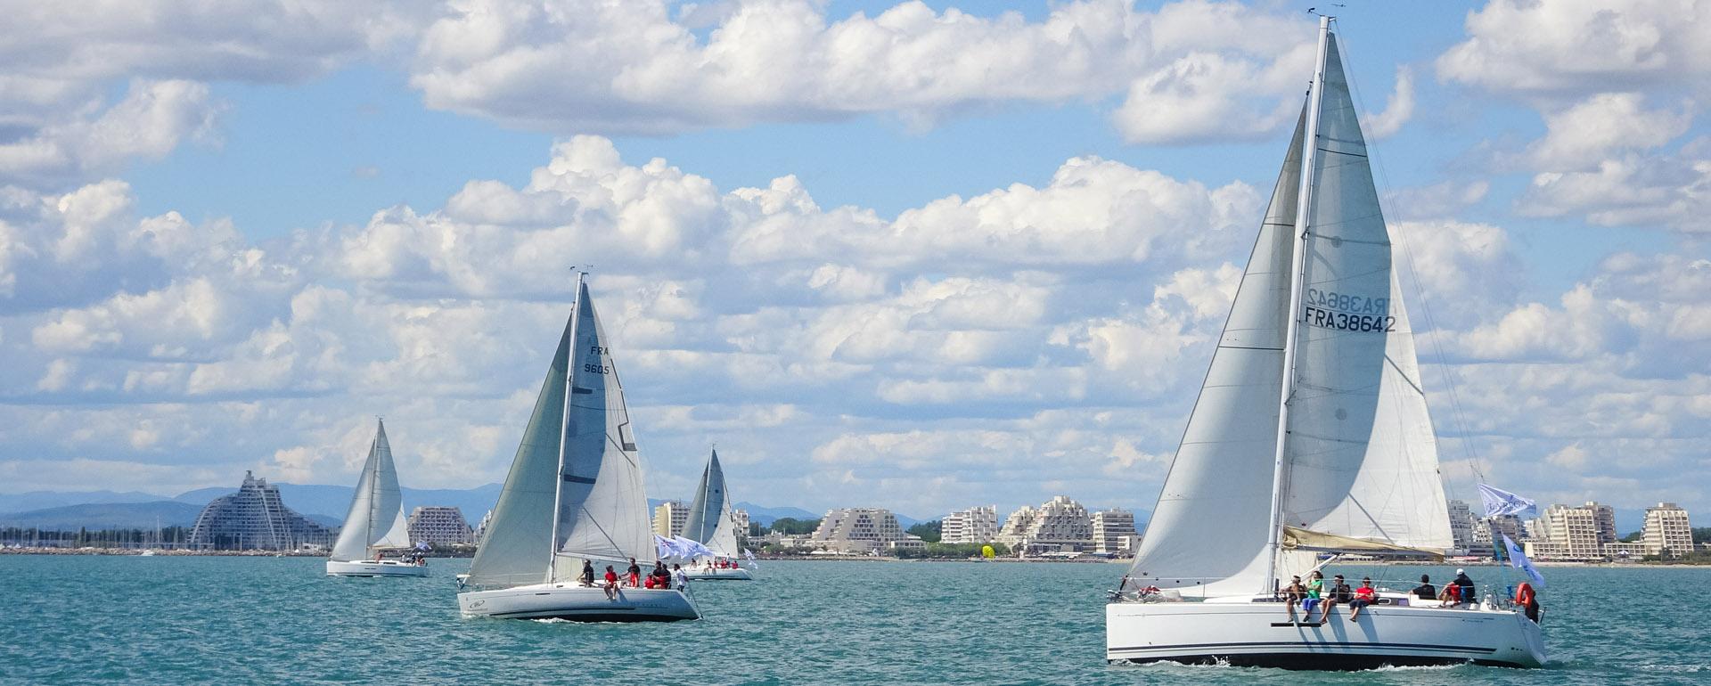
<svg viewBox="0 0 1711 686">
<path fill-rule="evenodd" d="M 0 493 L 503 481 L 587 269 L 655 498 L 1150 510 L 1307 2 L 0 2 Z M 1711 510 L 1711 2 L 1347 0 L 1451 498 Z"/>
</svg>

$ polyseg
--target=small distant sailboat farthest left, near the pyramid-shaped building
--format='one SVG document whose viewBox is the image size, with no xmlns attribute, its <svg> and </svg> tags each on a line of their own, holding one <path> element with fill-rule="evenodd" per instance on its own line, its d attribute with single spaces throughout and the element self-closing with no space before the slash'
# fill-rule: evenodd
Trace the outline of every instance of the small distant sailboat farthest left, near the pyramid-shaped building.
<svg viewBox="0 0 1711 686">
<path fill-rule="evenodd" d="M 385 549 L 404 547 L 411 547 L 404 493 L 399 489 L 399 470 L 392 465 L 387 423 L 376 419 L 375 441 L 368 445 L 351 510 L 327 558 L 327 577 L 428 577 L 426 565 L 380 558 Z"/>
</svg>

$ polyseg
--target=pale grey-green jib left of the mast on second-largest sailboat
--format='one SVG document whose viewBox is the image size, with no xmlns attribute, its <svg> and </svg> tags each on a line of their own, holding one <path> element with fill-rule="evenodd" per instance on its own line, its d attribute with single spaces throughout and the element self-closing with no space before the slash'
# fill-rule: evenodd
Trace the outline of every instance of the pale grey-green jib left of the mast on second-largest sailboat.
<svg viewBox="0 0 1711 686">
<path fill-rule="evenodd" d="M 575 322 L 575 315 L 571 315 Z M 469 565 L 471 585 L 513 587 L 546 578 L 553 544 L 558 457 L 565 423 L 565 370 L 570 366 L 570 330 L 553 352 L 529 428 L 505 476 L 500 503 L 488 513 L 486 534 Z"/>
</svg>

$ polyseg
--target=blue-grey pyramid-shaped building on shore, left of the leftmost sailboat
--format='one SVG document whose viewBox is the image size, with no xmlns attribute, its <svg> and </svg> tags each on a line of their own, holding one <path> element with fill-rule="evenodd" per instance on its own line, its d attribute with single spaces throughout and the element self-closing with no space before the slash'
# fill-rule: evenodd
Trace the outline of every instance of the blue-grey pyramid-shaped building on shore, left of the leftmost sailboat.
<svg viewBox="0 0 1711 686">
<path fill-rule="evenodd" d="M 293 551 L 332 546 L 334 530 L 298 515 L 279 500 L 279 486 L 243 472 L 238 493 L 214 498 L 190 527 L 188 547 L 214 551 Z"/>
</svg>

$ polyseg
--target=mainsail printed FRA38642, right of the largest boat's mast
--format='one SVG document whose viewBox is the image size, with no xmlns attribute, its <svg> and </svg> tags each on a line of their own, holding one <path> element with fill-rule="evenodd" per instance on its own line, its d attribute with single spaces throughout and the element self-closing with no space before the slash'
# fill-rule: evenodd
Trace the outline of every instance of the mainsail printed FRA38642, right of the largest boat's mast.
<svg viewBox="0 0 1711 686">
<path fill-rule="evenodd" d="M 1335 36 L 1317 145 L 1282 523 L 1449 547 L 1413 334 Z"/>
</svg>

